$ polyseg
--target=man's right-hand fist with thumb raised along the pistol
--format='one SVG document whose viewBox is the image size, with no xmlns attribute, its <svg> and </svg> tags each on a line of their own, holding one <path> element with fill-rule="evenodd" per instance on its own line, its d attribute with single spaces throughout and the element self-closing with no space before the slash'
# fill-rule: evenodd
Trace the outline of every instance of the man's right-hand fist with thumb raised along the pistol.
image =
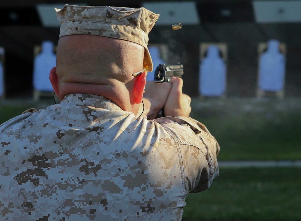
<svg viewBox="0 0 301 221">
<path fill-rule="evenodd" d="M 172 78 L 172 88 L 164 106 L 164 115 L 173 117 L 189 117 L 191 112 L 191 98 L 183 94 L 183 79 L 179 77 Z"/>
</svg>

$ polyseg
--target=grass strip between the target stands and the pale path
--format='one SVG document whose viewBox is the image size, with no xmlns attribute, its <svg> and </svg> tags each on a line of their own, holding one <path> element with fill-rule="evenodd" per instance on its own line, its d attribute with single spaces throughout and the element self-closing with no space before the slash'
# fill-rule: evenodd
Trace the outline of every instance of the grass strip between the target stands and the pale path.
<svg viewBox="0 0 301 221">
<path fill-rule="evenodd" d="M 221 147 L 219 160 L 301 159 L 300 105 L 288 107 L 277 100 L 216 102 L 211 102 L 211 106 L 208 101 L 203 104 L 207 106 L 194 106 L 191 115 L 216 137 Z M 294 103 L 301 102 L 297 99 Z"/>
</svg>

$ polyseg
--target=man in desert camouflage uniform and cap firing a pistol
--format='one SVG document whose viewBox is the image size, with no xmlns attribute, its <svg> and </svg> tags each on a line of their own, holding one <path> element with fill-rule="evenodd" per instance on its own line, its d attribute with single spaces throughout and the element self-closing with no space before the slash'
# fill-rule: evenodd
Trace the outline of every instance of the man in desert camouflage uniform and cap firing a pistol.
<svg viewBox="0 0 301 221">
<path fill-rule="evenodd" d="M 57 10 L 49 78 L 61 103 L 1 125 L 1 219 L 181 220 L 187 194 L 209 188 L 219 145 L 189 118 L 182 79 L 145 86 L 147 34 L 158 16 Z M 163 107 L 169 117 L 150 120 Z"/>
</svg>

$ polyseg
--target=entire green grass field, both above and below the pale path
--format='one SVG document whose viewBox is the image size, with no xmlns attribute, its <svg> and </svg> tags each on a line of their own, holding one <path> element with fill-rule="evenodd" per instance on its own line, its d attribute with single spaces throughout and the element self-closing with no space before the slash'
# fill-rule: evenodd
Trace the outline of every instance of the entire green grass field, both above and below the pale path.
<svg viewBox="0 0 301 221">
<path fill-rule="evenodd" d="M 35 107 L 0 101 L 0 123 Z M 301 160 L 301 99 L 193 99 L 191 116 L 218 140 L 219 160 Z M 202 193 L 190 194 L 183 220 L 299 221 L 301 168 L 220 168 Z"/>
</svg>

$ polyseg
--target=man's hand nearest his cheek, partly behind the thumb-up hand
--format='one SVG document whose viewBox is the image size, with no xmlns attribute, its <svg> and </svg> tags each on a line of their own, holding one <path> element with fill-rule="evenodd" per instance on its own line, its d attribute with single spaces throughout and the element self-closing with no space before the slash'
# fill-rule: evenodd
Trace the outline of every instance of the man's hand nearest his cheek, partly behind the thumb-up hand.
<svg viewBox="0 0 301 221">
<path fill-rule="evenodd" d="M 169 92 L 172 88 L 172 84 L 163 82 L 155 83 L 154 81 L 147 81 L 145 85 L 145 93 L 143 94 L 144 102 L 144 115 L 147 115 L 147 119 L 155 119 L 163 109 Z M 141 104 L 142 105 L 142 104 Z"/>
</svg>

